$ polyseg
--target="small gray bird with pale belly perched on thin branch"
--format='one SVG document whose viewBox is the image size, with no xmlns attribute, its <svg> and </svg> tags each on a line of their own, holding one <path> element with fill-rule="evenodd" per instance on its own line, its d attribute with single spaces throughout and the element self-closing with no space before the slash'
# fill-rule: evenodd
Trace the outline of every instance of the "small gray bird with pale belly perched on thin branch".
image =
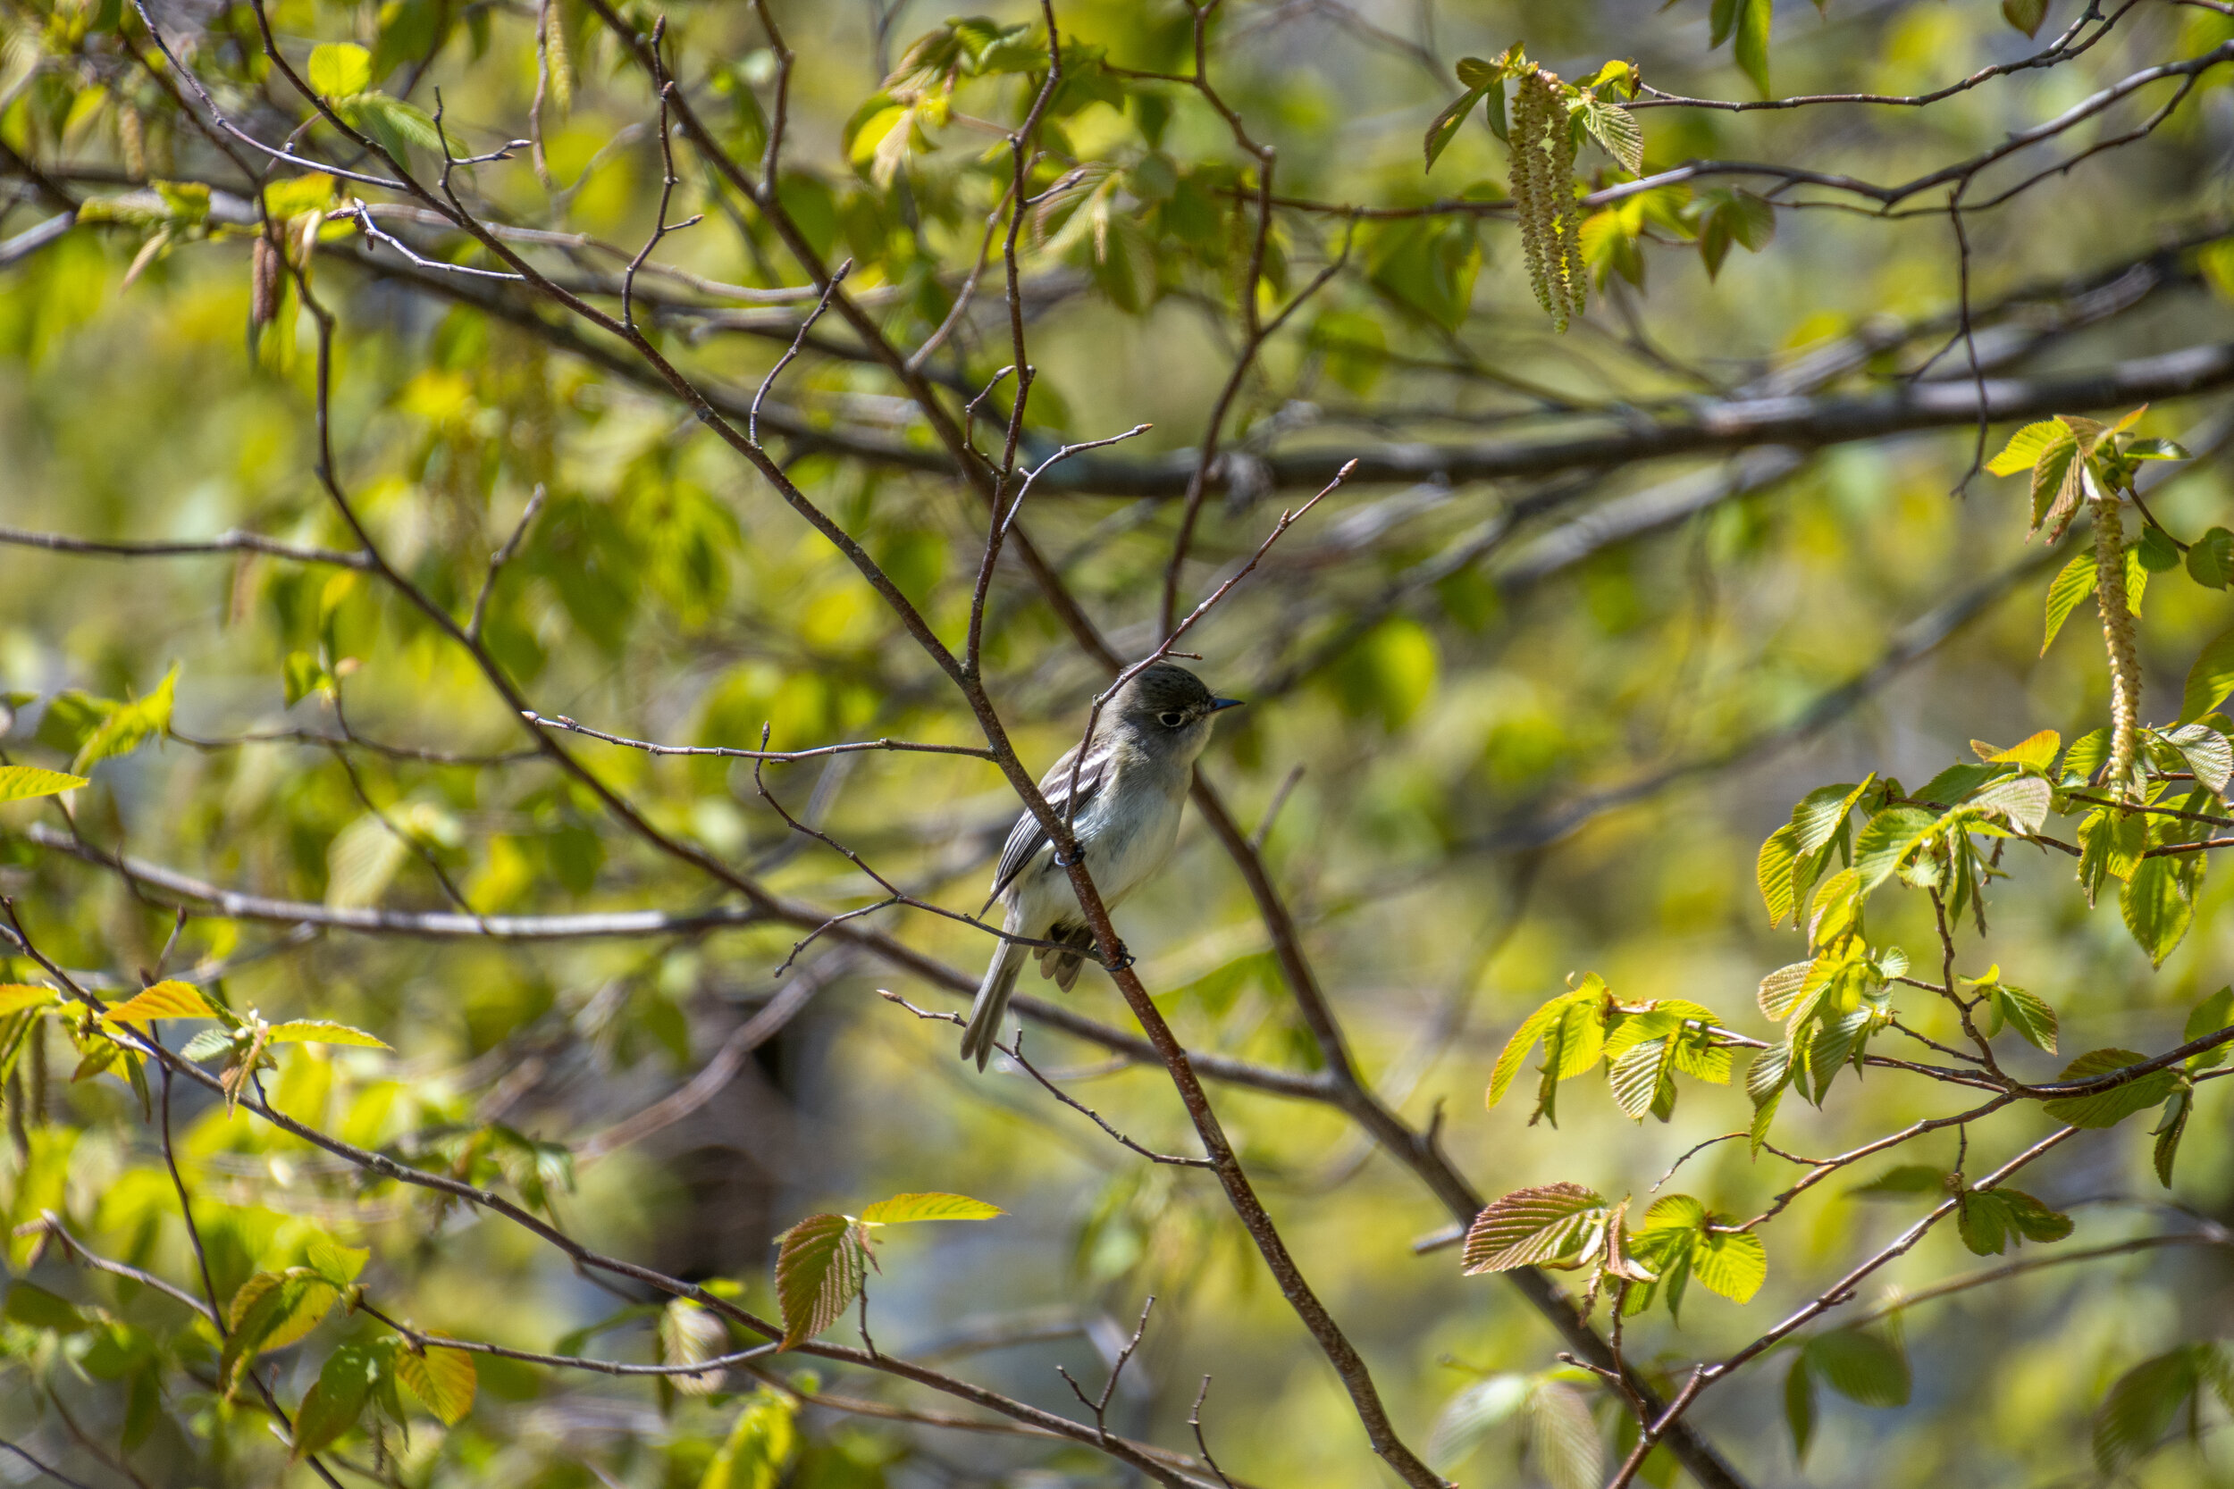
<svg viewBox="0 0 2234 1489">
<path fill-rule="evenodd" d="M 1211 714 L 1235 705 L 1240 699 L 1211 697 L 1200 676 L 1159 661 L 1144 667 L 1101 710 L 1077 770 L 1079 801 L 1070 817 L 1101 904 L 1117 909 L 1171 855 L 1186 781 L 1202 746 L 1211 741 Z M 1039 777 L 1039 792 L 1057 817 L 1070 804 L 1070 761 L 1077 752 L 1072 746 Z M 1070 875 L 1054 862 L 1054 844 L 1032 813 L 1016 817 L 1008 833 L 985 906 L 992 909 L 994 900 L 1008 906 L 1001 929 L 1010 935 L 1063 942 L 1079 951 L 1095 944 Z M 974 1056 L 978 1069 L 985 1069 L 1028 955 L 1039 958 L 1039 976 L 1054 978 L 1068 993 L 1079 980 L 1079 951 L 1001 942 L 978 982 L 976 1002 L 970 1005 L 963 1058 Z"/>
</svg>

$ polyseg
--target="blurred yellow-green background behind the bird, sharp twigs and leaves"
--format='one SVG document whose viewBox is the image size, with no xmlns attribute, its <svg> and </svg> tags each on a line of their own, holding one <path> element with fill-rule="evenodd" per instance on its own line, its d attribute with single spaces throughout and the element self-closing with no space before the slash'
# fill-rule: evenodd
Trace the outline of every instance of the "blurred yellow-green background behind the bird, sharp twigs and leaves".
<svg viewBox="0 0 2234 1489">
<path fill-rule="evenodd" d="M 418 16 L 424 40 L 382 56 L 393 76 L 384 67 L 378 78 L 391 92 L 416 83 L 413 98 L 429 107 L 440 87 L 447 125 L 478 152 L 523 134 L 536 89 L 534 9 L 288 0 L 273 16 L 288 47 L 380 47 Z M 1010 121 L 1021 103 L 1014 78 L 972 85 L 956 96 L 956 118 L 880 183 L 878 163 L 851 150 L 858 112 L 907 42 L 941 22 L 923 4 L 891 9 L 900 13 L 860 0 L 775 7 L 798 54 L 786 194 L 831 257 L 856 259 L 853 286 L 907 346 L 943 319 L 1005 185 L 999 129 L 965 116 Z M 2053 4 L 2042 36 L 2069 25 L 2071 9 Z M 572 89 L 567 107 L 545 103 L 547 183 L 523 152 L 474 170 L 469 190 L 503 221 L 632 252 L 652 223 L 661 174 L 650 92 L 594 16 L 567 0 L 554 13 Z M 1057 13 L 1066 36 L 1104 47 L 1115 65 L 1188 67 L 1182 4 L 1066 0 Z M 239 80 L 255 71 L 244 60 L 246 7 L 176 0 L 156 16 L 192 45 L 197 67 L 228 78 L 221 96 L 248 123 L 273 138 L 284 132 L 295 116 L 281 118 L 273 103 L 284 89 Z M 1008 7 L 1001 18 L 1032 13 Z M 0 138 L 80 199 L 125 196 L 150 179 L 223 190 L 230 165 L 105 49 L 101 27 L 116 25 L 114 7 L 9 0 Z M 751 150 L 753 109 L 728 105 L 755 89 L 766 96 L 773 60 L 760 27 L 735 4 L 672 4 L 668 25 L 693 89 L 708 109 L 728 109 L 724 127 Z M 1401 208 L 1501 196 L 1503 150 L 1479 123 L 1428 174 L 1419 143 L 1457 92 L 1450 65 L 1495 56 L 1515 38 L 1566 76 L 1635 58 L 1660 87 L 1754 96 L 1729 49 L 1709 47 L 1702 0 L 1664 11 L 1626 0 L 1226 4 L 1209 33 L 1220 92 L 1256 138 L 1278 147 L 1278 190 L 1298 201 Z M 1640 118 L 1653 165 L 1713 156 L 1897 181 L 2227 33 L 2230 22 L 2200 7 L 2140 4 L 2075 63 L 1928 109 Z M 413 76 L 433 38 L 440 56 Z M 1789 4 L 1776 7 L 1774 87 L 1908 94 L 2040 45 L 1979 0 L 1832 0 L 1821 16 Z M 1041 377 L 1032 440 L 1046 453 L 1063 438 L 1148 422 L 1153 431 L 1095 467 L 1137 469 L 1200 444 L 1231 368 L 1244 252 L 1231 192 L 1244 161 L 1218 116 L 1180 87 L 1142 85 L 1130 98 L 1110 87 L 1110 98 L 1072 98 L 1066 109 L 1057 127 L 1075 158 L 1133 174 L 1130 194 L 1110 199 L 1115 212 L 1099 228 L 1081 208 L 1025 234 Z M 2227 94 L 2203 87 L 2145 143 L 1970 217 L 1970 297 L 1988 371 L 2051 377 L 2227 339 L 2234 246 L 2218 234 L 2230 138 Z M 1162 167 L 1142 174 L 1151 154 L 1173 165 L 1162 199 L 1151 194 Z M 2035 152 L 2020 165 L 2046 158 Z M 1593 150 L 1582 167 L 1611 172 Z M 728 286 L 804 284 L 742 199 L 695 161 L 679 174 L 677 214 L 706 217 L 666 239 L 661 261 Z M 0 196 L 0 239 L 51 212 L 20 176 L 0 190 L 13 192 Z M 1206 592 L 1282 505 L 1305 496 L 1267 489 L 1264 460 L 1278 453 L 1338 458 L 1407 440 L 1597 429 L 1591 420 L 1606 411 L 1617 420 L 1687 397 L 1865 395 L 1919 368 L 1968 377 L 1959 344 L 1926 368 L 1959 304 L 1944 192 L 1903 205 L 1890 217 L 1778 208 L 1774 239 L 1736 248 L 1713 277 L 1680 228 L 1649 228 L 1662 241 L 1635 250 L 1642 288 L 1615 279 L 1564 337 L 1530 299 L 1506 214 L 1352 225 L 1282 210 L 1273 250 L 1287 292 L 1334 263 L 1354 232 L 1349 254 L 1244 382 L 1229 426 L 1242 455 L 1204 507 L 1184 594 Z M 1671 203 L 1671 217 L 1680 208 Z M 382 223 L 413 230 L 409 219 Z M 418 228 L 420 250 L 485 263 L 462 239 Z M 83 225 L 0 268 L 0 522 L 132 540 L 239 527 L 349 547 L 313 478 L 308 321 L 288 301 L 252 335 L 239 232 L 181 230 L 127 272 L 150 232 Z M 594 250 L 545 252 L 583 281 L 610 286 L 621 268 Z M 755 746 L 762 726 L 775 748 L 871 737 L 974 743 L 967 712 L 876 596 L 679 404 L 460 304 L 440 292 L 440 275 L 402 272 L 393 252 L 371 250 L 346 223 L 328 228 L 315 277 L 342 321 L 340 475 L 400 569 L 462 614 L 529 491 L 547 489 L 487 623 L 491 650 L 538 710 L 670 743 Z M 663 344 L 695 373 L 746 393 L 802 310 L 672 277 L 652 288 Z M 786 373 L 780 402 L 818 429 L 936 464 L 920 417 L 880 368 L 847 355 L 833 326 Z M 1839 353 L 1852 355 L 1839 362 Z M 1005 362 L 994 277 L 934 368 L 976 386 Z M 2212 397 L 2147 415 L 2149 433 L 2203 453 L 2154 502 L 2174 531 L 2223 520 L 2227 489 L 2209 460 L 2221 417 Z M 1979 475 L 1957 493 L 1973 446 L 1970 429 L 1953 429 L 1526 480 L 1347 487 L 1191 636 L 1200 672 L 1251 701 L 1220 723 L 1206 775 L 1244 828 L 1280 799 L 1267 857 L 1361 1067 L 1410 1121 L 1441 1112 L 1450 1159 L 1483 1192 L 1571 1179 L 1642 1197 L 1678 1154 L 1747 1125 L 1740 1089 L 1687 1085 L 1673 1121 L 1638 1125 L 1579 1083 L 1562 1092 L 1557 1130 L 1528 1127 L 1519 1101 L 1483 1109 L 1481 1092 L 1510 1029 L 1579 971 L 1602 973 L 1624 1000 L 1689 998 L 1740 1031 L 1769 1034 L 1754 984 L 1801 947 L 1767 929 L 1751 862 L 1805 790 L 1870 770 L 1921 781 L 1968 757 L 1973 739 L 2011 743 L 2042 728 L 2069 739 L 2107 719 L 2087 614 L 2040 656 L 2053 569 L 2037 542 L 2024 542 L 2022 482 Z M 795 438 L 786 464 L 943 634 L 961 632 L 983 527 L 974 496 L 934 471 L 849 453 L 842 440 Z M 1023 522 L 1113 643 L 1146 650 L 1177 502 L 1081 484 L 1090 482 L 1050 475 Z M 1512 511 L 1528 516 L 1486 540 L 1483 525 Z M 2167 721 L 2187 661 L 2227 621 L 2223 596 L 2171 578 L 2147 596 L 2142 625 L 2142 714 Z M 1003 567 L 990 616 L 992 697 L 1025 763 L 1046 768 L 1077 737 L 1104 674 L 1068 645 L 1021 571 Z M 331 692 L 286 703 L 290 654 L 328 663 L 344 714 Z M 103 761 L 74 799 L 78 828 L 107 848 L 208 884 L 326 906 L 447 909 L 429 859 L 480 913 L 684 913 L 719 900 L 715 884 L 648 853 L 545 763 L 498 759 L 525 748 L 518 721 L 371 576 L 252 556 L 105 560 L 0 545 L 0 690 L 25 694 L 0 734 L 9 759 L 67 763 L 69 710 L 56 710 L 56 694 L 143 697 L 170 667 L 172 737 Z M 333 732 L 344 717 L 366 739 L 469 759 L 353 750 L 353 784 L 333 750 L 288 737 Z M 842 857 L 789 833 L 737 761 L 567 743 L 661 828 L 780 893 L 833 911 L 878 897 Z M 976 911 L 1016 810 L 992 766 L 958 757 L 775 766 L 766 786 L 882 873 L 965 911 Z M 416 851 L 366 801 L 407 824 Z M 154 967 L 170 915 L 114 873 L 29 835 L 58 822 L 51 806 L 0 808 L 0 888 L 56 960 L 121 987 Z M 2006 868 L 1990 931 L 1966 940 L 1961 971 L 1997 962 L 2053 1002 L 2066 1054 L 2169 1047 L 2185 1009 L 2230 976 L 2223 875 L 2205 882 L 2185 944 L 2151 971 L 2116 906 L 2089 909 L 2064 859 L 2015 851 Z M 1926 958 L 1928 906 L 1908 900 L 1888 900 L 1874 929 Z M 932 915 L 880 911 L 876 924 L 972 976 L 987 953 L 981 933 Z M 1117 924 L 1191 1047 L 1311 1067 L 1316 1051 L 1247 886 L 1193 815 L 1171 868 Z M 337 1018 L 395 1047 L 393 1056 L 293 1047 L 270 1080 L 279 1107 L 366 1145 L 445 1156 L 503 1123 L 552 1145 L 541 1150 L 550 1174 L 572 1147 L 572 1183 L 552 1192 L 570 1232 L 690 1279 L 733 1279 L 762 1310 L 773 1308 L 771 1237 L 809 1212 L 858 1212 L 900 1190 L 994 1201 L 1005 1219 L 889 1235 L 882 1272 L 869 1281 L 882 1348 L 1077 1411 L 1054 1366 L 1097 1389 L 1155 1295 L 1115 1424 L 1191 1449 L 1188 1406 L 1211 1375 L 1202 1422 L 1235 1478 L 1385 1478 L 1211 1179 L 1119 1150 L 1012 1067 L 985 1076 L 963 1067 L 952 1027 L 878 998 L 882 987 L 929 1009 L 958 1007 L 900 969 L 822 940 L 777 980 L 800 935 L 771 924 L 498 944 L 197 915 L 170 967 L 223 967 L 221 991 L 235 1007 Z M 31 971 L 7 967 L 16 980 Z M 596 1145 L 596 1134 L 681 1087 L 798 978 L 815 978 L 820 991 L 710 1101 L 641 1141 Z M 1070 1002 L 1130 1027 L 1092 969 Z M 1903 1014 L 1948 1034 L 1946 1016 L 1921 998 Z M 76 1051 L 60 1029 L 38 1038 L 9 1087 L 16 1141 L 0 1152 L 9 1221 L 51 1205 L 112 1255 L 190 1279 L 170 1185 L 130 1087 L 114 1076 L 71 1083 Z M 1028 1040 L 1050 1076 L 1119 1130 L 1193 1152 L 1162 1072 L 1052 1031 Z M 2049 1056 L 2013 1063 L 2026 1074 L 2055 1069 Z M 1414 1255 L 1412 1243 L 1448 1217 L 1336 1112 L 1235 1087 L 1213 1094 L 1305 1272 L 1358 1339 L 1414 1442 L 1479 1382 L 1555 1366 L 1555 1335 L 1510 1288 L 1461 1277 L 1454 1250 Z M 1836 1152 L 1950 1109 L 1948 1101 L 1932 1085 L 1870 1072 L 1841 1080 L 1821 1112 L 1787 1101 L 1776 1141 Z M 248 1116 L 228 1118 L 197 1092 L 181 1089 L 176 1121 L 219 1290 L 284 1261 L 317 1226 L 371 1246 L 371 1293 L 420 1326 L 543 1351 L 612 1322 L 570 1348 L 657 1357 L 655 1310 L 630 1310 L 648 1295 L 614 1297 L 518 1230 L 427 1197 L 362 1190 L 344 1165 Z M 1997 1161 L 2042 1132 L 2037 1114 L 2008 1116 L 1982 1130 L 1977 1147 Z M 2028 1188 L 2073 1212 L 2069 1246 L 2234 1223 L 2225 1132 L 2225 1094 L 2205 1087 L 2169 1192 L 2149 1174 L 2138 1123 L 2069 1145 Z M 500 1147 L 458 1161 L 478 1163 L 494 1183 L 518 1183 L 521 1165 L 532 1176 L 534 1150 Z M 1917 1161 L 1953 1161 L 1953 1141 L 1917 1147 Z M 1691 1159 L 1671 1188 L 1749 1214 L 1792 1174 L 1727 1143 Z M 1901 1203 L 1848 1199 L 1848 1188 L 1823 1185 L 1765 1232 L 1772 1270 L 1751 1304 L 1693 1293 L 1680 1326 L 1664 1315 L 1631 1326 L 1633 1357 L 1680 1366 L 1734 1348 L 1912 1219 Z M 29 1266 L 22 1243 L 11 1261 Z M 1932 1235 L 1859 1308 L 1883 1304 L 1881 1286 L 1915 1290 L 1970 1266 L 1953 1235 Z M 51 1255 L 29 1275 L 98 1297 Z M 1785 1426 L 1783 1357 L 1709 1395 L 1698 1424 L 1756 1485 L 2091 1482 L 2087 1422 L 2104 1386 L 2140 1357 L 2225 1331 L 2230 1277 L 2221 1248 L 2163 1248 L 1921 1304 L 1901 1315 L 1908 1404 L 1865 1409 L 1825 1395 L 1805 1462 Z M 107 1301 L 118 1315 L 154 1306 Z M 9 1377 L 45 1384 L 0 1391 L 7 1435 L 45 1433 L 38 1440 L 74 1471 L 123 1482 L 60 1433 L 42 1391 L 114 1444 L 127 1382 L 87 1371 L 67 1339 L 38 1344 L 20 1319 L 9 1328 Z M 281 1395 L 308 1384 L 322 1342 L 353 1328 L 360 1322 L 337 1315 L 275 1355 Z M 833 1337 L 849 1331 L 844 1322 Z M 731 1393 L 748 1384 L 733 1377 L 715 1397 L 677 1397 L 641 1382 L 483 1362 L 474 1415 L 449 1431 L 416 1424 L 389 1471 L 413 1485 L 699 1482 L 737 1411 Z M 936 1406 L 869 1375 L 824 1371 L 822 1384 Z M 2167 1449 L 2138 1473 L 2221 1482 L 2227 1458 L 2209 1431 L 2223 1420 L 2214 1411 L 2203 1413 L 2198 1449 Z M 190 1380 L 165 1386 L 163 1422 L 130 1453 L 141 1482 L 277 1482 L 281 1453 L 221 1415 Z M 1611 1424 L 1611 1402 L 1600 1415 Z M 782 1482 L 1119 1476 L 1041 1442 L 822 1409 L 804 1413 L 802 1433 Z M 1564 1471 L 1530 1451 L 1526 1413 L 1472 1433 L 1445 1420 L 1441 1449 L 1439 1467 L 1463 1485 L 1557 1482 Z M 357 1456 L 371 1460 L 369 1449 Z M 25 1473 L 0 1462 L 0 1478 Z"/>
</svg>

